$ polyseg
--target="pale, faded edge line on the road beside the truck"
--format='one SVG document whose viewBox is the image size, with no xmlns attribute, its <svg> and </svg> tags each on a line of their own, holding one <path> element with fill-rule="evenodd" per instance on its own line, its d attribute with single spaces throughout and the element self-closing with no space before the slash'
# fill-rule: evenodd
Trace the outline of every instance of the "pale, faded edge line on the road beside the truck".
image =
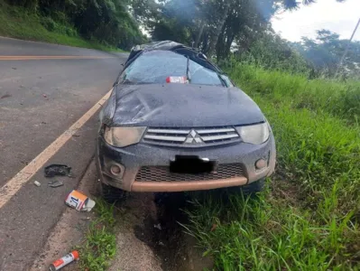
<svg viewBox="0 0 360 271">
<path fill-rule="evenodd" d="M 9 201 L 16 192 L 18 192 L 23 185 L 28 182 L 32 176 L 37 173 L 42 166 L 54 155 L 60 148 L 67 143 L 72 135 L 77 133 L 78 129 L 84 126 L 90 117 L 93 117 L 97 110 L 103 106 L 106 99 L 109 98 L 112 89 L 101 98 L 94 107 L 91 107 L 84 116 L 80 117 L 77 122 L 69 127 L 62 135 L 60 135 L 54 142 L 51 143 L 41 154 L 37 155 L 32 162 L 27 164 L 19 173 L 17 173 L 13 179 L 6 182 L 5 185 L 0 188 L 0 209 Z"/>
</svg>

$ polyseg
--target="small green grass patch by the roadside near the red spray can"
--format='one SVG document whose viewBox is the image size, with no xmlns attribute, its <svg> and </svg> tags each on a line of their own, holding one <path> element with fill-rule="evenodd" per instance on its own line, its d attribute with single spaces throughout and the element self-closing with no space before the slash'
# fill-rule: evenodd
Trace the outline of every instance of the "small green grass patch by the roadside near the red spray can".
<svg viewBox="0 0 360 271">
<path fill-rule="evenodd" d="M 97 219 L 92 221 L 79 248 L 82 270 L 104 271 L 116 253 L 114 206 L 98 200 Z"/>
</svg>

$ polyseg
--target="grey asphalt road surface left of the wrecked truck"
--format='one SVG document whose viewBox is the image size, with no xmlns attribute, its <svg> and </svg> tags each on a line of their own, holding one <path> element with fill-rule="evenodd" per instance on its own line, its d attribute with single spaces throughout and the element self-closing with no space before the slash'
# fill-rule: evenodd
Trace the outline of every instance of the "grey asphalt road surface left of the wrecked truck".
<svg viewBox="0 0 360 271">
<path fill-rule="evenodd" d="M 112 88 L 124 61 L 121 54 L 0 38 L 0 197 L 16 173 Z M 68 164 L 75 178 L 62 178 L 64 186 L 54 189 L 41 169 L 0 207 L 0 270 L 32 265 L 86 172 L 96 134 L 97 114 L 46 162 Z"/>
</svg>

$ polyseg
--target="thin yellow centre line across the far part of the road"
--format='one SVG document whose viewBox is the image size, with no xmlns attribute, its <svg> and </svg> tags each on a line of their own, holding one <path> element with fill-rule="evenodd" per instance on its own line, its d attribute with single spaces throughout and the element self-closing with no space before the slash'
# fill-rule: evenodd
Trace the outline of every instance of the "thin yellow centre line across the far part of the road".
<svg viewBox="0 0 360 271">
<path fill-rule="evenodd" d="M 84 55 L 0 55 L 0 61 L 38 61 L 38 60 L 98 60 L 112 59 L 112 56 Z"/>
</svg>

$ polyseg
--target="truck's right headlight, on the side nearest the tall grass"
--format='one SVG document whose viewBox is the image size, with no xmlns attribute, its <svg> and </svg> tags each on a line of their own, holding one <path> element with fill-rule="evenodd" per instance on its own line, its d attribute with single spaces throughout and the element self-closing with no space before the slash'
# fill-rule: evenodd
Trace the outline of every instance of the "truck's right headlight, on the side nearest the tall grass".
<svg viewBox="0 0 360 271">
<path fill-rule="evenodd" d="M 236 131 L 244 142 L 251 144 L 262 144 L 270 135 L 269 126 L 266 122 L 254 126 L 238 126 Z"/>
</svg>

